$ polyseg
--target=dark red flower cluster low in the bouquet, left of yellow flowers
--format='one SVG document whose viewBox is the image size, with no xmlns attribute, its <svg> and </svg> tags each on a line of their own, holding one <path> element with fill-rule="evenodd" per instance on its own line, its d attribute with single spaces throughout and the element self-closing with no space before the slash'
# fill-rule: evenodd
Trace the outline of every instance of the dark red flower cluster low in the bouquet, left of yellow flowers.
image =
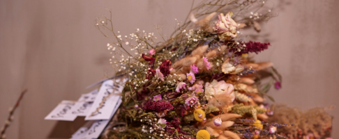
<svg viewBox="0 0 339 139">
<path fill-rule="evenodd" d="M 172 104 L 166 101 L 146 101 L 142 109 L 145 111 L 160 112 L 160 111 L 165 111 L 165 110 L 172 110 L 173 106 Z"/>
</svg>

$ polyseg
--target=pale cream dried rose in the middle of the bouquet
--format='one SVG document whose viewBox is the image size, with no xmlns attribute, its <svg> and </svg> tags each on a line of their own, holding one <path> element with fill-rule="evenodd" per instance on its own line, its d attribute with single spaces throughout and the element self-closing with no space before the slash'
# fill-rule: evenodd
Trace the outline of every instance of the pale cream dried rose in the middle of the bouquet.
<svg viewBox="0 0 339 139">
<path fill-rule="evenodd" d="M 211 83 L 205 83 L 205 89 L 205 94 L 210 99 L 212 98 L 212 95 L 230 95 L 232 97 L 232 101 L 235 99 L 233 91 L 234 86 L 231 83 L 213 80 Z"/>
</svg>

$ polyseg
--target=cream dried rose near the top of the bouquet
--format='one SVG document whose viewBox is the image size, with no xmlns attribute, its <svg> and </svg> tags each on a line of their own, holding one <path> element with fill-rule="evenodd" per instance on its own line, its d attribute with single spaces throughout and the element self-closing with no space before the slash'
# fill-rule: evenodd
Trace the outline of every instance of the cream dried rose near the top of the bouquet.
<svg viewBox="0 0 339 139">
<path fill-rule="evenodd" d="M 238 24 L 231 18 L 232 12 L 228 12 L 226 15 L 220 13 L 218 15 L 218 21 L 216 21 L 216 32 L 221 39 L 236 38 L 236 28 Z"/>
</svg>

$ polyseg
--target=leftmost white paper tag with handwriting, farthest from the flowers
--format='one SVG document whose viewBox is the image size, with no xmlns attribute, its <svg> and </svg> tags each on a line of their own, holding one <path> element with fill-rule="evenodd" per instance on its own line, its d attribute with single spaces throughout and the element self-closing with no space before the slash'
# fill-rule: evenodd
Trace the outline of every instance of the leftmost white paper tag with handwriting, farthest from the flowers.
<svg viewBox="0 0 339 139">
<path fill-rule="evenodd" d="M 53 111 L 45 117 L 45 120 L 64 120 L 73 121 L 77 115 L 73 115 L 72 111 L 76 106 L 75 101 L 63 100 Z"/>
</svg>

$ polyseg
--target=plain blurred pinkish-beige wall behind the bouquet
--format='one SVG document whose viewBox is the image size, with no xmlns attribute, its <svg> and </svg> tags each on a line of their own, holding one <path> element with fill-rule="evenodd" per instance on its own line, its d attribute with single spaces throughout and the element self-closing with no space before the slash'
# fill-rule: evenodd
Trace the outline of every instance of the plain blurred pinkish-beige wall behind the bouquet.
<svg viewBox="0 0 339 139">
<path fill-rule="evenodd" d="M 112 10 L 114 28 L 129 35 L 136 28 L 172 33 L 192 1 L 10 1 L 0 0 L 0 126 L 20 92 L 28 89 L 6 131 L 10 139 L 68 138 L 81 123 L 44 120 L 61 100 L 77 100 L 87 85 L 113 74 L 109 42 L 95 27 Z M 270 90 L 277 102 L 303 110 L 339 106 L 339 1 L 271 0 L 274 17 L 263 23 L 257 41 L 273 47 L 256 56 L 271 61 L 283 88 Z M 339 138 L 339 110 L 333 138 Z M 79 122 L 80 121 L 80 122 Z"/>
</svg>

